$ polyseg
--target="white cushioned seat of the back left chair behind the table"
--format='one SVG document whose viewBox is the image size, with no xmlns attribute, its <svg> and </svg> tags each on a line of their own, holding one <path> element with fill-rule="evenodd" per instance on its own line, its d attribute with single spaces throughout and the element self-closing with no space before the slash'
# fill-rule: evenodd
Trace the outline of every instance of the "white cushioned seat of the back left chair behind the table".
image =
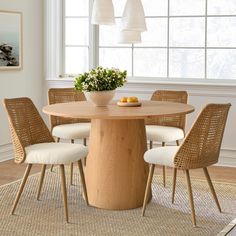
<svg viewBox="0 0 236 236">
<path fill-rule="evenodd" d="M 52 129 L 52 135 L 61 139 L 83 139 L 88 138 L 91 123 L 74 123 L 57 125 Z"/>
</svg>

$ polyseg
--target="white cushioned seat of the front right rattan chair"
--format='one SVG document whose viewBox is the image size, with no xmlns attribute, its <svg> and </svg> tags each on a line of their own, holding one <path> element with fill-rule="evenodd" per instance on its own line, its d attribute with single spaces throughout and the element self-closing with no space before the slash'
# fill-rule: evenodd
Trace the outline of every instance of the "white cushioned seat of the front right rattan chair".
<svg viewBox="0 0 236 236">
<path fill-rule="evenodd" d="M 144 153 L 144 160 L 150 164 L 174 167 L 174 157 L 178 150 L 178 146 L 153 148 Z"/>
</svg>

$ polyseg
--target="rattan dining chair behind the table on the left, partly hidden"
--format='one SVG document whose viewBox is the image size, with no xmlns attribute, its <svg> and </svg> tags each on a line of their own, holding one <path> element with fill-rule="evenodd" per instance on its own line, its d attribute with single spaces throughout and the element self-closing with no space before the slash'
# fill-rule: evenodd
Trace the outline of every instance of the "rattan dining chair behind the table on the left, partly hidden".
<svg viewBox="0 0 236 236">
<path fill-rule="evenodd" d="M 78 92 L 74 88 L 51 88 L 48 91 L 49 104 L 75 101 L 86 101 L 86 98 L 82 92 Z M 52 135 L 56 137 L 57 142 L 64 139 L 74 143 L 75 139 L 83 139 L 83 143 L 86 146 L 91 128 L 90 120 L 50 116 L 50 123 Z M 51 171 L 52 169 L 53 165 L 51 166 Z M 73 163 L 70 163 L 70 184 L 72 182 Z"/>
</svg>

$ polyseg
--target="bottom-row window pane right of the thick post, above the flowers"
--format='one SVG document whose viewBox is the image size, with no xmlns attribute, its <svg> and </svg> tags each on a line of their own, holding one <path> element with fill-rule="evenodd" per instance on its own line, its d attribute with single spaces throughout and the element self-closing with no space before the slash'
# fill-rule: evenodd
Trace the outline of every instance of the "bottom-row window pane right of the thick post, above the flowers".
<svg viewBox="0 0 236 236">
<path fill-rule="evenodd" d="M 131 48 L 100 48 L 99 53 L 99 65 L 127 70 L 128 75 L 132 74 Z"/>
</svg>

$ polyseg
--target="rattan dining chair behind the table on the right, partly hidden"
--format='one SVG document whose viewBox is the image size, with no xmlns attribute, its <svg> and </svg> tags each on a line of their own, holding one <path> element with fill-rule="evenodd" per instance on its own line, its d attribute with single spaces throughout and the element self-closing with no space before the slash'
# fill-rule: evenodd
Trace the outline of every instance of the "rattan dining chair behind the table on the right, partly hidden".
<svg viewBox="0 0 236 236">
<path fill-rule="evenodd" d="M 152 101 L 178 102 L 187 104 L 188 93 L 186 91 L 157 90 L 151 97 Z M 176 142 L 185 136 L 186 115 L 152 117 L 146 119 L 146 135 L 152 149 L 153 141 L 161 142 L 165 146 L 167 142 Z M 163 169 L 163 185 L 166 185 L 166 168 Z"/>
</svg>

